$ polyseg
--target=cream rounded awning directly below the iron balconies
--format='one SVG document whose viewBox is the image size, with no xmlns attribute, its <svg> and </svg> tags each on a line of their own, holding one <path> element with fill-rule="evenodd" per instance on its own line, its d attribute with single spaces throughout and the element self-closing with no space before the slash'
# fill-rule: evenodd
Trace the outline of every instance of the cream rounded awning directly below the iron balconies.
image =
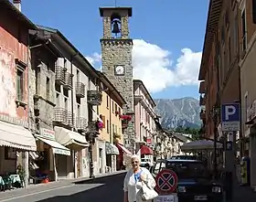
<svg viewBox="0 0 256 202">
<path fill-rule="evenodd" d="M 55 126 L 54 131 L 56 141 L 72 150 L 81 150 L 89 146 L 85 136 L 81 135 L 80 133 L 72 132 L 59 126 Z"/>
</svg>

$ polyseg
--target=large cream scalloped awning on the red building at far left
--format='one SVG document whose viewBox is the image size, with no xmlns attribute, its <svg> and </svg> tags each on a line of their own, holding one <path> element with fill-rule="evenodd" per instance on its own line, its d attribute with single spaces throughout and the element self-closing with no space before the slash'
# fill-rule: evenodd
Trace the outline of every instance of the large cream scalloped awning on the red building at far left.
<svg viewBox="0 0 256 202">
<path fill-rule="evenodd" d="M 0 121 L 0 146 L 37 151 L 36 140 L 26 128 Z"/>
</svg>

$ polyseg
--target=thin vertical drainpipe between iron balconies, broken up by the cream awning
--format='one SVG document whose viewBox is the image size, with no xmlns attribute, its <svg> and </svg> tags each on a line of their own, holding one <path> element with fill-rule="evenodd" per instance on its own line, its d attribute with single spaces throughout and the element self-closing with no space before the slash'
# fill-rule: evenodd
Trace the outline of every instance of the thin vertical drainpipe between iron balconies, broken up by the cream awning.
<svg viewBox="0 0 256 202">
<path fill-rule="evenodd" d="M 78 55 L 79 53 L 75 53 L 70 57 L 70 73 L 72 76 L 72 85 L 73 85 L 73 59 Z M 74 88 L 71 88 L 71 119 L 72 119 L 72 125 L 74 125 Z M 74 131 L 74 128 L 72 128 L 72 131 Z M 72 150 L 73 154 L 73 172 L 74 172 L 74 178 L 77 178 L 77 159 L 76 159 L 76 152 Z"/>
</svg>

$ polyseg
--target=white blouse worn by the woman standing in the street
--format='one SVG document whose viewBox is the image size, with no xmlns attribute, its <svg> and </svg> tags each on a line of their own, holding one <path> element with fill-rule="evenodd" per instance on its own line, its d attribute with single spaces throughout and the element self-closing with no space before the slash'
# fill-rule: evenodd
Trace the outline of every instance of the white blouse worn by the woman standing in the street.
<svg viewBox="0 0 256 202">
<path fill-rule="evenodd" d="M 146 175 L 146 177 L 147 177 L 147 182 L 146 182 L 147 186 L 154 188 L 155 187 L 154 177 L 151 175 L 151 173 L 146 168 L 142 167 L 140 169 L 142 169 L 141 175 Z M 141 188 L 142 188 L 142 182 L 135 181 L 133 169 L 128 170 L 124 177 L 124 181 L 123 181 L 123 191 L 128 192 L 128 201 L 129 202 L 138 201 L 136 196 Z"/>
</svg>

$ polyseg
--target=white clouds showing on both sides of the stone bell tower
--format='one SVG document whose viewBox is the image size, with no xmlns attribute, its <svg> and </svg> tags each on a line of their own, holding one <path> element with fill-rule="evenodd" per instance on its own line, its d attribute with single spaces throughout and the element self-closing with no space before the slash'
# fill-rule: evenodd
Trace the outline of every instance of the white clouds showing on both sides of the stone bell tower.
<svg viewBox="0 0 256 202">
<path fill-rule="evenodd" d="M 201 55 L 201 52 L 183 48 L 173 65 L 174 62 L 168 50 L 142 39 L 134 39 L 133 77 L 143 80 L 150 92 L 158 92 L 172 86 L 197 85 Z M 101 55 L 98 53 L 87 58 L 91 64 L 101 61 Z"/>
</svg>

